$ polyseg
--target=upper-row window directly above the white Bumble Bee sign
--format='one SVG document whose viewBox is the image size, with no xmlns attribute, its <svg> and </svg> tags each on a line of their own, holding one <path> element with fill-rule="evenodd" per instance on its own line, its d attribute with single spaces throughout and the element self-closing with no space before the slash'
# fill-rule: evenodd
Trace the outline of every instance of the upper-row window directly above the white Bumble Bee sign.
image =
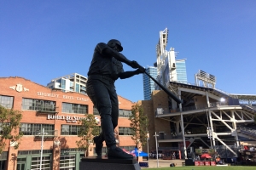
<svg viewBox="0 0 256 170">
<path fill-rule="evenodd" d="M 62 112 L 87 114 L 88 105 L 62 103 Z"/>
</svg>

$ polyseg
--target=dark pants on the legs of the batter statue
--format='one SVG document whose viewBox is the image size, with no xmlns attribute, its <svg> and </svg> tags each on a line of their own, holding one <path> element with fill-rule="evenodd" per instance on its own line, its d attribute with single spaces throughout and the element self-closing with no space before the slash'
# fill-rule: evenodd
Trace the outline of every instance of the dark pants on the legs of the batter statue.
<svg viewBox="0 0 256 170">
<path fill-rule="evenodd" d="M 89 77 L 86 91 L 101 116 L 102 133 L 100 142 L 105 140 L 108 147 L 116 145 L 113 130 L 118 125 L 119 101 L 113 84 L 108 79 Z"/>
</svg>

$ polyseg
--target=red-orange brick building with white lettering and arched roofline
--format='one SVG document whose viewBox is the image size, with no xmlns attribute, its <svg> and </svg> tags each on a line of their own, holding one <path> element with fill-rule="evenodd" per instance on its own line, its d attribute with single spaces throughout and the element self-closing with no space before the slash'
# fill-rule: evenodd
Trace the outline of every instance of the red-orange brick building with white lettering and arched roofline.
<svg viewBox="0 0 256 170">
<path fill-rule="evenodd" d="M 0 170 L 39 169 L 40 161 L 42 169 L 79 169 L 84 150 L 77 149 L 78 120 L 84 114 L 95 114 L 100 119 L 87 95 L 53 90 L 22 77 L 1 77 L 0 105 L 22 111 L 20 131 L 24 134 L 18 150 L 7 144 L 0 156 Z M 131 105 L 134 103 L 119 96 L 119 126 L 115 133 L 119 146 L 126 150 L 135 147 L 128 120 Z M 89 156 L 95 155 L 94 147 L 90 145 Z"/>
</svg>

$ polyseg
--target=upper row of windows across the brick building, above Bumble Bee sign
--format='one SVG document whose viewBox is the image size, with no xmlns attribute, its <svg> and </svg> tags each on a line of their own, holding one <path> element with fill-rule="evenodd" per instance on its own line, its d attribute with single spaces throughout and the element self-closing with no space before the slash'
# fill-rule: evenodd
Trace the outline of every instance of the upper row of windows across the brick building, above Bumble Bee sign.
<svg viewBox="0 0 256 170">
<path fill-rule="evenodd" d="M 0 105 L 3 105 L 3 107 L 11 109 L 13 101 L 14 97 L 0 95 Z M 24 98 L 22 99 L 22 110 L 56 112 L 55 101 Z M 64 113 L 88 114 L 88 105 L 62 103 L 61 111 Z M 93 106 L 93 114 L 99 115 L 99 111 L 95 106 Z M 119 116 L 129 117 L 131 116 L 131 111 L 119 109 Z"/>
</svg>

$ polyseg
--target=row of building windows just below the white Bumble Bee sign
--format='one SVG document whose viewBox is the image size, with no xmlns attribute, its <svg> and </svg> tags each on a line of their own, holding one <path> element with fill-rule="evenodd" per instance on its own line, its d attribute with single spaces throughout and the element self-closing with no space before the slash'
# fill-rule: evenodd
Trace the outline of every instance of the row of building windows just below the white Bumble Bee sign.
<svg viewBox="0 0 256 170">
<path fill-rule="evenodd" d="M 24 135 L 38 135 L 43 128 L 47 135 L 55 134 L 55 125 L 53 124 L 20 123 L 20 132 Z M 79 125 L 61 125 L 61 135 L 78 135 L 80 129 Z M 132 135 L 131 128 L 119 127 L 119 135 Z"/>
</svg>

